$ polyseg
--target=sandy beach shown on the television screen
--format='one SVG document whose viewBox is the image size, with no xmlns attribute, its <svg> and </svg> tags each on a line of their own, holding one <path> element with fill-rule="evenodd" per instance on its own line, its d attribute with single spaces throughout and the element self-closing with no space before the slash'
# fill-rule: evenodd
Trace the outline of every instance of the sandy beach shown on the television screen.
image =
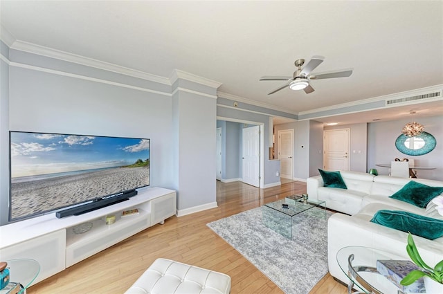
<svg viewBox="0 0 443 294">
<path fill-rule="evenodd" d="M 28 217 L 150 185 L 148 167 L 115 167 L 96 172 L 11 183 L 11 219 Z"/>
</svg>

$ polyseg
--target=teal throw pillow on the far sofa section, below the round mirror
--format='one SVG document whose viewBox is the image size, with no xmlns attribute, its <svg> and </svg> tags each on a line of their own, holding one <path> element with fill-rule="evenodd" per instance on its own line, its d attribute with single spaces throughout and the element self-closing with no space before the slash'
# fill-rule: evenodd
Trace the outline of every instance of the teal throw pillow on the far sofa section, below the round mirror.
<svg viewBox="0 0 443 294">
<path fill-rule="evenodd" d="M 429 201 L 443 193 L 443 187 L 431 187 L 410 181 L 390 198 L 408 202 L 419 208 L 426 208 Z"/>
</svg>

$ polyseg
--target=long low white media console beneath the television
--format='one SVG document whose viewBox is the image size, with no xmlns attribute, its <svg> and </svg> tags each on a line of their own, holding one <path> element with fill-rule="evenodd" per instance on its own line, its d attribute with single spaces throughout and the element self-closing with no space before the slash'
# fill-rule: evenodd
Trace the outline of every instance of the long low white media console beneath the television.
<svg viewBox="0 0 443 294">
<path fill-rule="evenodd" d="M 137 208 L 138 214 L 121 218 L 121 212 Z M 144 187 L 127 201 L 78 216 L 57 219 L 55 212 L 0 226 L 0 261 L 30 258 L 40 264 L 33 284 L 123 241 L 137 232 L 163 223 L 176 214 L 177 193 L 161 187 Z M 107 225 L 105 219 L 116 216 Z M 92 222 L 91 230 L 75 234 L 73 228 Z M 17 275 L 16 275 L 17 277 Z"/>
</svg>

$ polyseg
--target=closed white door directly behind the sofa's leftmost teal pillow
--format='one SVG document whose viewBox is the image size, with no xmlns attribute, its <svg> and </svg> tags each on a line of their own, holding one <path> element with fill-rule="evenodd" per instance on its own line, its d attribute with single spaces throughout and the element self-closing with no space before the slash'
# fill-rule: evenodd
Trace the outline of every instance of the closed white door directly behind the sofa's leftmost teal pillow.
<svg viewBox="0 0 443 294">
<path fill-rule="evenodd" d="M 323 134 L 323 168 L 349 170 L 350 129 L 334 129 Z"/>
</svg>

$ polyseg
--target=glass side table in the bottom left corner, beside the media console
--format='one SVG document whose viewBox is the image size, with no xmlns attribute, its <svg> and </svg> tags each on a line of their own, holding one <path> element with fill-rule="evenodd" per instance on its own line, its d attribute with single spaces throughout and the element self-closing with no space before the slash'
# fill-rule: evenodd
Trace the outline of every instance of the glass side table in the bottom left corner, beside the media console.
<svg viewBox="0 0 443 294">
<path fill-rule="evenodd" d="M 34 259 L 6 260 L 9 268 L 9 284 L 0 290 L 0 294 L 22 294 L 40 273 L 40 264 Z"/>
</svg>

